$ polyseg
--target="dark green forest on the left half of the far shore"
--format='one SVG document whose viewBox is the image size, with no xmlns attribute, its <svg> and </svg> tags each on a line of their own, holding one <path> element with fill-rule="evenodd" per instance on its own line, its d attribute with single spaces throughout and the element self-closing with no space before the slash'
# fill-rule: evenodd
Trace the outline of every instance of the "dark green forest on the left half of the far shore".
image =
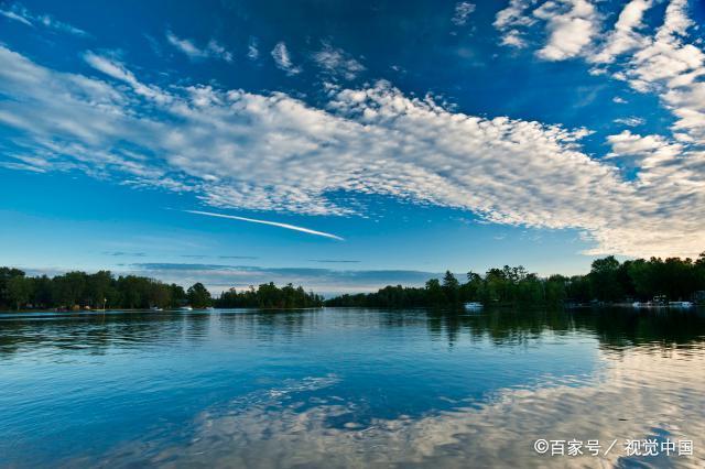
<svg viewBox="0 0 705 469">
<path fill-rule="evenodd" d="M 279 288 L 273 283 L 238 293 L 235 288 L 212 298 L 202 283 L 184 291 L 137 275 L 113 276 L 108 271 L 94 274 L 68 272 L 48 277 L 28 276 L 19 269 L 0 268 L 0 308 L 177 308 L 218 307 L 311 307 L 323 298 L 291 284 Z"/>
</svg>

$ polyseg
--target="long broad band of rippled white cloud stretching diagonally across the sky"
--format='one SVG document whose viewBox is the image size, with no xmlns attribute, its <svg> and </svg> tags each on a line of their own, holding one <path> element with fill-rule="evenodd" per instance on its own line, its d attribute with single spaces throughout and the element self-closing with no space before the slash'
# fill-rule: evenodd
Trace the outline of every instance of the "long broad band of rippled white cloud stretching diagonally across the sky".
<svg viewBox="0 0 705 469">
<path fill-rule="evenodd" d="M 333 90 L 314 108 L 281 92 L 160 88 L 115 59 L 86 61 L 104 79 L 0 46 L 0 92 L 13 98 L 0 122 L 22 149 L 1 161 L 192 190 L 220 208 L 355 215 L 359 206 L 329 194 L 379 194 L 497 223 L 575 228 L 595 241 L 592 252 L 703 249 L 705 157 L 685 143 L 626 133 L 599 161 L 578 146 L 586 130 L 454 112 L 384 81 Z M 650 160 L 633 157 L 643 167 L 625 181 L 614 164 L 640 145 Z"/>
</svg>

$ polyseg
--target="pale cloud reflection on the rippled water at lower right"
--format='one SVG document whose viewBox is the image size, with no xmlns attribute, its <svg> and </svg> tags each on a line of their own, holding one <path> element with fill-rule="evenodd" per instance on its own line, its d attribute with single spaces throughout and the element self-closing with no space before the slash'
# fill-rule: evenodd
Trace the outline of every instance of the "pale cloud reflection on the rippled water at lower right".
<svg viewBox="0 0 705 469">
<path fill-rule="evenodd" d="M 355 402 L 306 396 L 337 377 L 308 378 L 202 412 L 187 443 L 158 445 L 147 459 L 140 445 L 118 454 L 166 467 L 636 467 L 625 440 L 660 435 L 694 440 L 694 456 L 642 462 L 703 467 L 705 423 L 692 417 L 705 408 L 705 347 L 603 349 L 599 359 L 606 367 L 587 379 L 502 389 L 479 405 L 364 425 L 350 421 Z M 570 458 L 538 456 L 536 438 L 619 443 L 607 457 Z"/>
</svg>

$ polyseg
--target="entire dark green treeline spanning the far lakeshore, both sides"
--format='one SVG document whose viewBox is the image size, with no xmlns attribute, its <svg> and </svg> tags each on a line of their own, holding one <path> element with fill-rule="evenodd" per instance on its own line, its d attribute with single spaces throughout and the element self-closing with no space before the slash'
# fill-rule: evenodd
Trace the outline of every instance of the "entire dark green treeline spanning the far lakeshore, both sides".
<svg viewBox="0 0 705 469">
<path fill-rule="evenodd" d="M 324 302 L 313 292 L 273 283 L 258 288 L 230 288 L 213 298 L 196 283 L 186 291 L 176 284 L 137 275 L 116 277 L 108 271 L 94 274 L 68 272 L 48 277 L 28 276 L 18 269 L 0 268 L 0 308 L 302 308 L 327 306 L 419 307 L 482 304 L 562 305 L 594 302 L 649 301 L 705 302 L 705 253 L 692 259 L 651 258 L 619 262 L 614 257 L 597 259 L 586 275 L 541 277 L 523 266 L 490 269 L 484 275 L 468 272 L 465 282 L 446 272 L 422 287 L 386 286 L 377 293 L 343 295 Z"/>
</svg>

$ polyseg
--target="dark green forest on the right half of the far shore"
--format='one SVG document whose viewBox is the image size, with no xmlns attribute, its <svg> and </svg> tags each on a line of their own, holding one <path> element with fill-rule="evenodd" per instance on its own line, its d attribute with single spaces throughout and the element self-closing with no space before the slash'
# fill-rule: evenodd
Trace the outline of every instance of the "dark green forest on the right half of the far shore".
<svg viewBox="0 0 705 469">
<path fill-rule="evenodd" d="M 705 299 L 705 253 L 696 261 L 597 259 L 586 275 L 540 277 L 523 266 L 490 269 L 484 275 L 468 272 L 466 282 L 446 272 L 423 287 L 386 286 L 377 293 L 341 295 L 326 306 L 414 307 L 452 306 L 466 302 L 482 304 L 562 305 L 590 302 L 649 301 L 663 296 L 672 301 Z"/>
</svg>

